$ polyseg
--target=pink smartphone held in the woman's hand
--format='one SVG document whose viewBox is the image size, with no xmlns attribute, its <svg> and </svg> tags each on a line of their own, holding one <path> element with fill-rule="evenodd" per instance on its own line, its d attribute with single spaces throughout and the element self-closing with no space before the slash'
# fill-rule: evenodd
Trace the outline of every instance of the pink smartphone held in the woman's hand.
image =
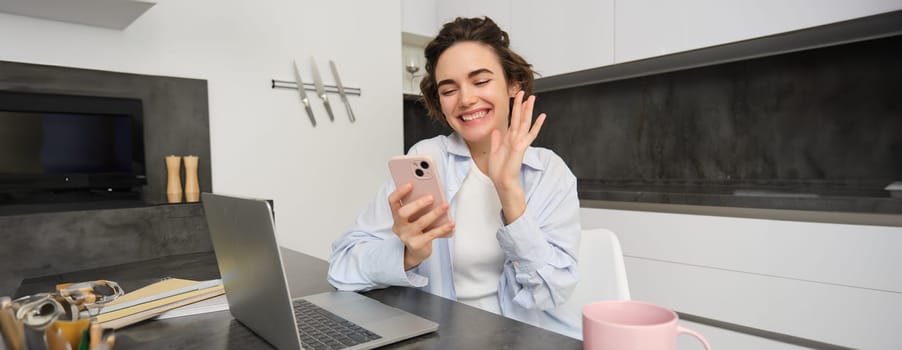
<svg viewBox="0 0 902 350">
<path fill-rule="evenodd" d="M 391 171 L 392 179 L 395 181 L 395 187 L 403 186 L 407 183 L 413 184 L 413 191 L 401 198 L 401 205 L 415 201 L 418 198 L 431 194 L 432 205 L 423 208 L 413 215 L 412 219 L 416 220 L 423 214 L 436 208 L 445 201 L 445 190 L 442 187 L 442 180 L 439 178 L 438 169 L 435 162 L 428 155 L 410 155 L 392 157 L 388 161 L 388 170 Z M 450 218 L 444 215 L 436 219 L 432 224 L 426 227 L 426 231 L 431 230 L 439 225 L 448 222 Z"/>
</svg>

